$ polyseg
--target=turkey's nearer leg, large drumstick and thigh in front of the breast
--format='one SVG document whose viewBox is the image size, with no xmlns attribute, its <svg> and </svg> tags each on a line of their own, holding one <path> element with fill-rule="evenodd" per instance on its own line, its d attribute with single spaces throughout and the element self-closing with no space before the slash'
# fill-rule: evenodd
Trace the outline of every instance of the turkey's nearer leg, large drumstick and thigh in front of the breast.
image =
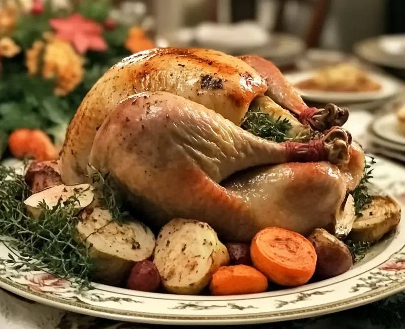
<svg viewBox="0 0 405 329">
<path fill-rule="evenodd" d="M 316 145 L 270 142 L 200 104 L 165 92 L 147 92 L 134 95 L 107 116 L 94 139 L 90 163 L 102 174 L 110 173 L 121 193 L 159 228 L 176 217 L 192 218 L 209 223 L 230 240 L 250 241 L 258 230 L 273 226 L 273 218 L 259 216 L 243 195 L 219 182 L 236 172 L 272 163 L 346 163 L 345 154 L 347 141 L 341 139 L 316 141 Z M 301 172 L 296 179 L 303 180 L 302 186 L 318 186 L 311 185 L 305 175 Z M 282 185 L 271 189 L 271 181 L 268 184 L 266 193 L 284 193 L 277 190 Z M 293 192 L 292 187 L 290 197 Z M 319 198 L 313 202 L 322 203 Z M 328 220 L 332 219 L 324 219 Z M 297 230 L 301 231 L 301 225 L 297 222 Z"/>
</svg>

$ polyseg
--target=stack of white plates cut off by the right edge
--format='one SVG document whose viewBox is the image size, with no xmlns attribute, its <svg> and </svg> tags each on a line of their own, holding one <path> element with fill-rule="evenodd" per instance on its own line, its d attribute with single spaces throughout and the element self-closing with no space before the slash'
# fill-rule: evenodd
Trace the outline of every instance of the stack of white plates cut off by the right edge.
<svg viewBox="0 0 405 329">
<path fill-rule="evenodd" d="M 405 135 L 398 130 L 395 113 L 377 117 L 368 132 L 374 152 L 405 162 Z"/>
</svg>

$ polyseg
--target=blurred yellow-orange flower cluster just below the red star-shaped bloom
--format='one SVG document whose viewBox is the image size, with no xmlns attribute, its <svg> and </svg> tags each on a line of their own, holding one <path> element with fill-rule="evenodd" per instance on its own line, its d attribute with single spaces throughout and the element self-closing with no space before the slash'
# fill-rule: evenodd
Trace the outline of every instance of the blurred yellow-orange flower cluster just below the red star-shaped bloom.
<svg viewBox="0 0 405 329">
<path fill-rule="evenodd" d="M 46 79 L 56 78 L 55 94 L 66 95 L 82 81 L 84 60 L 70 44 L 54 39 L 51 34 L 44 37 L 48 43 L 36 41 L 26 53 L 28 73 L 38 73 L 39 56 L 43 54 L 42 76 Z"/>
</svg>

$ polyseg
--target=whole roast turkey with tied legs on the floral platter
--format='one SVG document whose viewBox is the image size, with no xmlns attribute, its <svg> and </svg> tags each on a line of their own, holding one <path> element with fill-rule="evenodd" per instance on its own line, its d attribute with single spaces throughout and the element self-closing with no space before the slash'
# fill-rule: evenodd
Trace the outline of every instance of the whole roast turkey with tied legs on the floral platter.
<svg viewBox="0 0 405 329">
<path fill-rule="evenodd" d="M 330 229 L 365 166 L 361 147 L 336 127 L 347 112 L 309 108 L 271 63 L 242 59 L 166 48 L 113 66 L 69 125 L 62 180 L 109 174 L 156 229 L 176 217 L 207 222 L 231 241 L 268 226 Z M 239 127 L 256 107 L 290 121 L 288 141 Z"/>
</svg>

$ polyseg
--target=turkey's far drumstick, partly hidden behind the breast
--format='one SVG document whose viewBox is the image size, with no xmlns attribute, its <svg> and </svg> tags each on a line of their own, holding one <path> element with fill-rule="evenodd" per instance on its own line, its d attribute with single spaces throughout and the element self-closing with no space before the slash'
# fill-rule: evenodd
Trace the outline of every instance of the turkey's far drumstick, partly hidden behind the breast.
<svg viewBox="0 0 405 329">
<path fill-rule="evenodd" d="M 323 131 L 333 126 L 342 126 L 347 121 L 349 117 L 347 108 L 339 108 L 334 104 L 328 104 L 324 109 L 308 107 L 280 70 L 270 61 L 257 55 L 239 58 L 252 66 L 266 80 L 268 87 L 266 95 L 299 115 L 299 120 L 303 124 L 310 124 L 313 129 Z"/>
</svg>

